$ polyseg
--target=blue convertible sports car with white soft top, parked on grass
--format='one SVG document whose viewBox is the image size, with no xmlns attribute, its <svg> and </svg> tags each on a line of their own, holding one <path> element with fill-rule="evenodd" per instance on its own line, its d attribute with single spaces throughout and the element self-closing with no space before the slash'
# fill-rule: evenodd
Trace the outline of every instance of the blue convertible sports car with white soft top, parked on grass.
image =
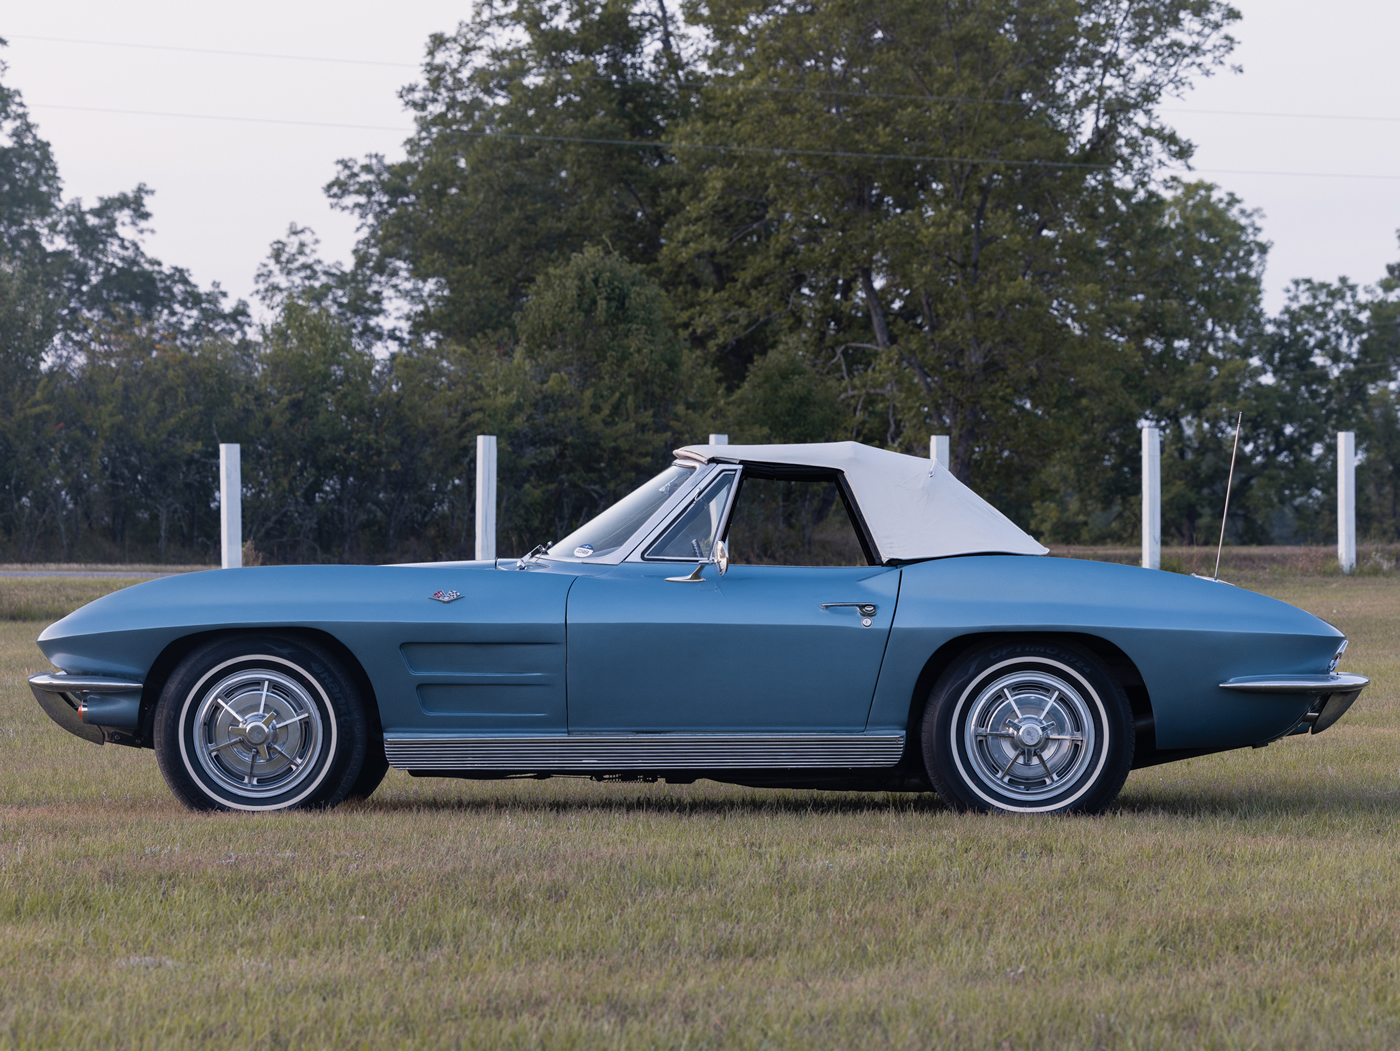
<svg viewBox="0 0 1400 1051">
<path fill-rule="evenodd" d="M 29 679 L 190 807 L 423 777 L 934 789 L 1095 812 L 1133 767 L 1319 733 L 1345 638 L 1205 579 L 1043 557 L 928 460 L 696 445 L 521 560 L 150 581 L 57 621 Z"/>
</svg>

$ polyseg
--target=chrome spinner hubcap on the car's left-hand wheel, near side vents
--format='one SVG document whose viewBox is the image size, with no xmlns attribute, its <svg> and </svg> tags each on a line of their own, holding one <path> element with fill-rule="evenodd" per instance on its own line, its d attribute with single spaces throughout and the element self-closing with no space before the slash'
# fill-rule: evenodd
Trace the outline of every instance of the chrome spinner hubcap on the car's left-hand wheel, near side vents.
<svg viewBox="0 0 1400 1051">
<path fill-rule="evenodd" d="M 195 754 L 225 789 L 242 796 L 287 792 L 316 766 L 321 710 L 295 679 L 249 668 L 221 679 L 195 714 Z"/>
</svg>

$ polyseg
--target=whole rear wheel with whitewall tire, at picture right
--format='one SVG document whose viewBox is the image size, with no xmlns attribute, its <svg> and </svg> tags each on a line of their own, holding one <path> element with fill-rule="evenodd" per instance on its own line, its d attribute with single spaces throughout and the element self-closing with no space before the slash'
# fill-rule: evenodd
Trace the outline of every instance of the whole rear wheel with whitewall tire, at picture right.
<svg viewBox="0 0 1400 1051">
<path fill-rule="evenodd" d="M 1093 655 L 1033 641 L 980 647 L 939 676 L 924 766 L 958 810 L 1096 813 L 1133 766 L 1133 710 Z"/>
</svg>

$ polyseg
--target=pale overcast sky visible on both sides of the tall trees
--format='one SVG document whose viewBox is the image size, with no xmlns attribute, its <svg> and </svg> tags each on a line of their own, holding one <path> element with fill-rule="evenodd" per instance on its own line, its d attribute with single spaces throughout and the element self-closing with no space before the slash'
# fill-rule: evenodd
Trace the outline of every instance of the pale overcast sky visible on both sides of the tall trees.
<svg viewBox="0 0 1400 1051">
<path fill-rule="evenodd" d="M 1295 277 L 1372 283 L 1400 260 L 1400 3 L 1238 6 L 1233 62 L 1245 71 L 1200 83 L 1168 115 L 1197 144 L 1200 175 L 1263 211 L 1270 309 Z M 414 78 L 428 34 L 469 10 L 445 0 L 4 0 L 10 46 L 0 57 L 53 144 L 69 196 L 147 183 L 153 255 L 246 298 L 290 223 L 312 227 L 326 256 L 349 259 L 354 221 L 328 206 L 322 186 L 337 158 L 399 155 L 410 122 L 398 88 Z"/>
</svg>

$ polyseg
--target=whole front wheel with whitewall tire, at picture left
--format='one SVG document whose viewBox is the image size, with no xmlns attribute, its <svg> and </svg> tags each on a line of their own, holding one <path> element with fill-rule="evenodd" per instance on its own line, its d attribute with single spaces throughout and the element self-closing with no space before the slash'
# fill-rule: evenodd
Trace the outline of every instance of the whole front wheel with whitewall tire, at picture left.
<svg viewBox="0 0 1400 1051">
<path fill-rule="evenodd" d="M 281 635 L 195 649 L 161 691 L 154 729 L 161 774 L 193 810 L 335 806 L 365 773 L 354 680 L 323 648 Z"/>
</svg>

